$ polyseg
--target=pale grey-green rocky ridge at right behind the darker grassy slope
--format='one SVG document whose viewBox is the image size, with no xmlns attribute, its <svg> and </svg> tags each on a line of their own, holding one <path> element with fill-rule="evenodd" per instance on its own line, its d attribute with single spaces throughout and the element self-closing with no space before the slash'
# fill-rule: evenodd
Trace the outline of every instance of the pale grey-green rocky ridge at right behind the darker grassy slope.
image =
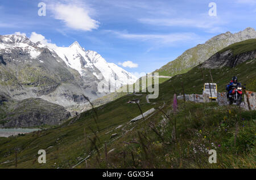
<svg viewBox="0 0 256 180">
<path fill-rule="evenodd" d="M 205 44 L 199 44 L 194 48 L 186 50 L 174 61 L 167 63 L 167 65 L 164 65 L 155 72 L 167 76 L 185 73 L 191 70 L 191 68 L 199 65 L 199 63 L 203 63 L 226 46 L 250 38 L 256 38 L 256 31 L 254 28 L 246 28 L 243 31 L 233 34 L 230 32 L 222 33 L 221 35 L 210 38 Z"/>
</svg>

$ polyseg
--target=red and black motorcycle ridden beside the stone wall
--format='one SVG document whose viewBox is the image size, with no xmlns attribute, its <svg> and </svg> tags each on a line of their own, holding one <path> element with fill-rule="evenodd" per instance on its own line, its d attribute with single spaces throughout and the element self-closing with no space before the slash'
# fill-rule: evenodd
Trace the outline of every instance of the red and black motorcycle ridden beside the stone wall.
<svg viewBox="0 0 256 180">
<path fill-rule="evenodd" d="M 229 95 L 229 104 L 236 103 L 236 105 L 240 105 L 242 102 L 242 89 L 245 89 L 241 83 L 232 84 L 232 93 Z"/>
</svg>

